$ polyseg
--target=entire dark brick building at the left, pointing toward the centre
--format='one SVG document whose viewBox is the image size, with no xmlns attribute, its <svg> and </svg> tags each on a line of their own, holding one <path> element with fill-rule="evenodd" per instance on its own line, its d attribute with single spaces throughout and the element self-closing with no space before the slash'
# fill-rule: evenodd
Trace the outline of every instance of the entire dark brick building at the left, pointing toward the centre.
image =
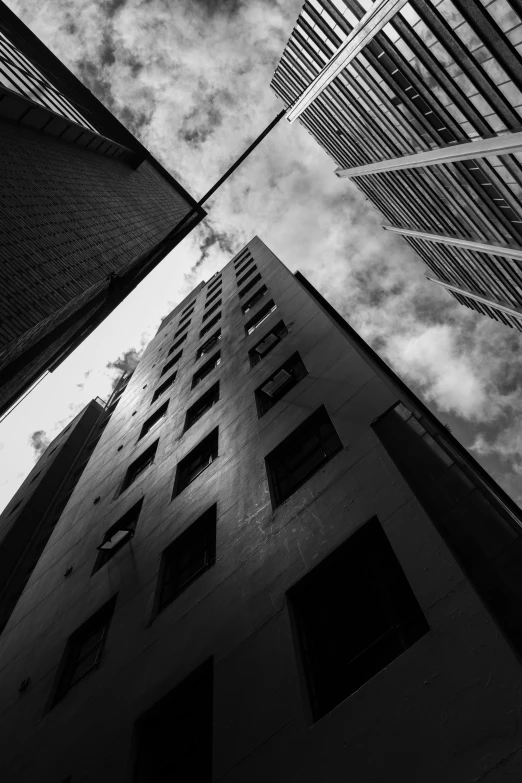
<svg viewBox="0 0 522 783">
<path fill-rule="evenodd" d="M 204 214 L 0 2 L 0 413 Z"/>
</svg>

